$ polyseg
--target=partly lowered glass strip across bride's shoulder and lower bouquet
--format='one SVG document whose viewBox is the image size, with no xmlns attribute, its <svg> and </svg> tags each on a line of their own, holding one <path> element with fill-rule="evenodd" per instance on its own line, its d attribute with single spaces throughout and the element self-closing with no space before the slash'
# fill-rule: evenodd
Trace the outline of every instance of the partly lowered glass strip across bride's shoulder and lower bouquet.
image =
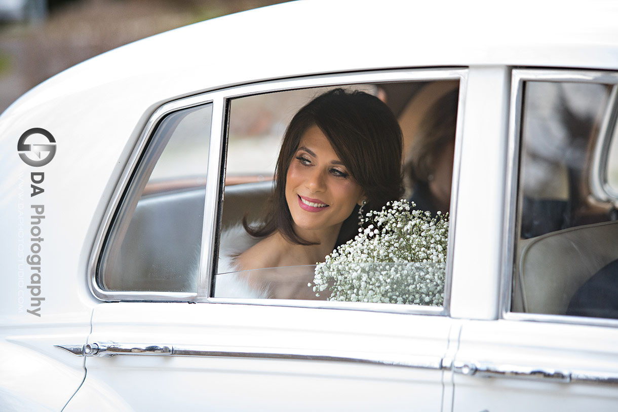
<svg viewBox="0 0 618 412">
<path fill-rule="evenodd" d="M 442 306 L 444 263 L 318 264 L 216 275 L 216 298 L 270 298 Z"/>
</svg>

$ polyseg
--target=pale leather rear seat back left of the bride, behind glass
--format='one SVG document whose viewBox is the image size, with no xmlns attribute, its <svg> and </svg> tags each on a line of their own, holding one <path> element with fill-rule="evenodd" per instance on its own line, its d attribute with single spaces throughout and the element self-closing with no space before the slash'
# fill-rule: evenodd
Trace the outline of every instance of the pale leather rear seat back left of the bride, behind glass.
<svg viewBox="0 0 618 412">
<path fill-rule="evenodd" d="M 261 217 L 273 182 L 228 186 L 222 228 Z M 203 188 L 143 197 L 135 208 L 122 246 L 110 260 L 104 286 L 109 290 L 191 292 L 197 289 Z"/>
</svg>

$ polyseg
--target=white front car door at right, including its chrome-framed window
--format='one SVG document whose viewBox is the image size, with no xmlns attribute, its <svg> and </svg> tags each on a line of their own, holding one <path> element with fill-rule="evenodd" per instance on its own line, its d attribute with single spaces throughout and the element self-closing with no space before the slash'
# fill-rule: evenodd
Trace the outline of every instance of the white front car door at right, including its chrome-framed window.
<svg viewBox="0 0 618 412">
<path fill-rule="evenodd" d="M 502 294 L 486 306 L 495 319 L 462 320 L 455 411 L 616 410 L 616 315 L 573 311 L 578 290 L 618 258 L 615 200 L 602 190 L 615 173 L 617 80 L 512 73 Z"/>
</svg>

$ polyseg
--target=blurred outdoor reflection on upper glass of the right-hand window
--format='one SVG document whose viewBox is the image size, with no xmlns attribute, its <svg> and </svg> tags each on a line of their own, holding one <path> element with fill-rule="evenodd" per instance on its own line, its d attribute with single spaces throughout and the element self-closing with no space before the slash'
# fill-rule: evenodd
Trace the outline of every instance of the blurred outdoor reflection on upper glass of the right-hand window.
<svg viewBox="0 0 618 412">
<path fill-rule="evenodd" d="M 598 131 L 609 88 L 603 84 L 527 82 L 523 103 L 520 237 L 603 218 L 588 201 L 590 139 Z"/>
</svg>

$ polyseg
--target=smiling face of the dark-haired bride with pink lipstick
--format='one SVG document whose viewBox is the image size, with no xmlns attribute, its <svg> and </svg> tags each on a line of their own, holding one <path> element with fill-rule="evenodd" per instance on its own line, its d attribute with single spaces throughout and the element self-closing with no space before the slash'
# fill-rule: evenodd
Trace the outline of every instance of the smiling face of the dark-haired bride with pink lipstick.
<svg viewBox="0 0 618 412">
<path fill-rule="evenodd" d="M 318 126 L 303 134 L 286 176 L 286 200 L 295 229 L 337 230 L 362 199 Z"/>
</svg>

